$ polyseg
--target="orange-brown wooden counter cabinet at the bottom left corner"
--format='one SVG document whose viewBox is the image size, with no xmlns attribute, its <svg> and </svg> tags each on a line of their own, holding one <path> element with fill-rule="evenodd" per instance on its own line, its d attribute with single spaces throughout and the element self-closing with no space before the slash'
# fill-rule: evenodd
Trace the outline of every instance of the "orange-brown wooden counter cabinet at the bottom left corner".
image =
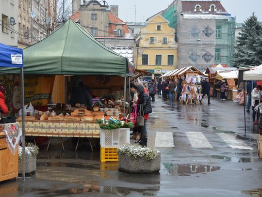
<svg viewBox="0 0 262 197">
<path fill-rule="evenodd" d="M 0 132 L 0 182 L 18 177 L 18 150 L 13 155 L 5 141 L 5 134 Z"/>
</svg>

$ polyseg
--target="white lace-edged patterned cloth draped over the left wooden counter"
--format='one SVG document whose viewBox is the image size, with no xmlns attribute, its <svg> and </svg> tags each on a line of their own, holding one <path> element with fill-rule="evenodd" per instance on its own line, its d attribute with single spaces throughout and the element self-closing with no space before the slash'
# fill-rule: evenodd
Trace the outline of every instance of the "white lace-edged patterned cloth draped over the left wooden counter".
<svg viewBox="0 0 262 197">
<path fill-rule="evenodd" d="M 0 124 L 2 132 L 5 133 L 5 140 L 8 144 L 9 150 L 12 154 L 16 154 L 17 146 L 22 140 L 22 131 L 19 127 L 18 122 Z"/>
</svg>

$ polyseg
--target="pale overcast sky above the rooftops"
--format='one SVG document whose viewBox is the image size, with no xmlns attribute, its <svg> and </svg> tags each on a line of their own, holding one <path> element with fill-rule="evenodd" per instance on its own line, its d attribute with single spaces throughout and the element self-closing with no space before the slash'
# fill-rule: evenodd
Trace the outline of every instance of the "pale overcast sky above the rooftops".
<svg viewBox="0 0 262 197">
<path fill-rule="evenodd" d="M 164 10 L 173 0 L 106 0 L 109 5 L 119 6 L 119 18 L 127 21 L 144 22 L 150 16 Z M 241 23 L 255 12 L 262 21 L 262 0 L 221 0 L 226 11 L 236 16 L 236 22 Z M 136 6 L 136 9 L 135 9 Z"/>
</svg>

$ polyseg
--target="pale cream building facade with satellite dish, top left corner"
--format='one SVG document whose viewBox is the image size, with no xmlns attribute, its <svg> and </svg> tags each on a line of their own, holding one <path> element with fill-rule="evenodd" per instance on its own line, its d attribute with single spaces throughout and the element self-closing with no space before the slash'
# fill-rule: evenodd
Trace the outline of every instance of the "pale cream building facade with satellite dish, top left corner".
<svg viewBox="0 0 262 197">
<path fill-rule="evenodd" d="M 0 6 L 0 43 L 17 47 L 18 3 L 17 0 L 3 0 Z"/>
</svg>

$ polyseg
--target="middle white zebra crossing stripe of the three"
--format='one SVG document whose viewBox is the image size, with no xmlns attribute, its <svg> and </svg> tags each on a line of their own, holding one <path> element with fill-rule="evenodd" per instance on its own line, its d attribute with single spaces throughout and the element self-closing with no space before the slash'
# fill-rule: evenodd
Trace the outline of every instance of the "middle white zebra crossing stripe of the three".
<svg viewBox="0 0 262 197">
<path fill-rule="evenodd" d="M 186 136 L 193 148 L 213 148 L 201 132 L 186 132 Z"/>
</svg>

